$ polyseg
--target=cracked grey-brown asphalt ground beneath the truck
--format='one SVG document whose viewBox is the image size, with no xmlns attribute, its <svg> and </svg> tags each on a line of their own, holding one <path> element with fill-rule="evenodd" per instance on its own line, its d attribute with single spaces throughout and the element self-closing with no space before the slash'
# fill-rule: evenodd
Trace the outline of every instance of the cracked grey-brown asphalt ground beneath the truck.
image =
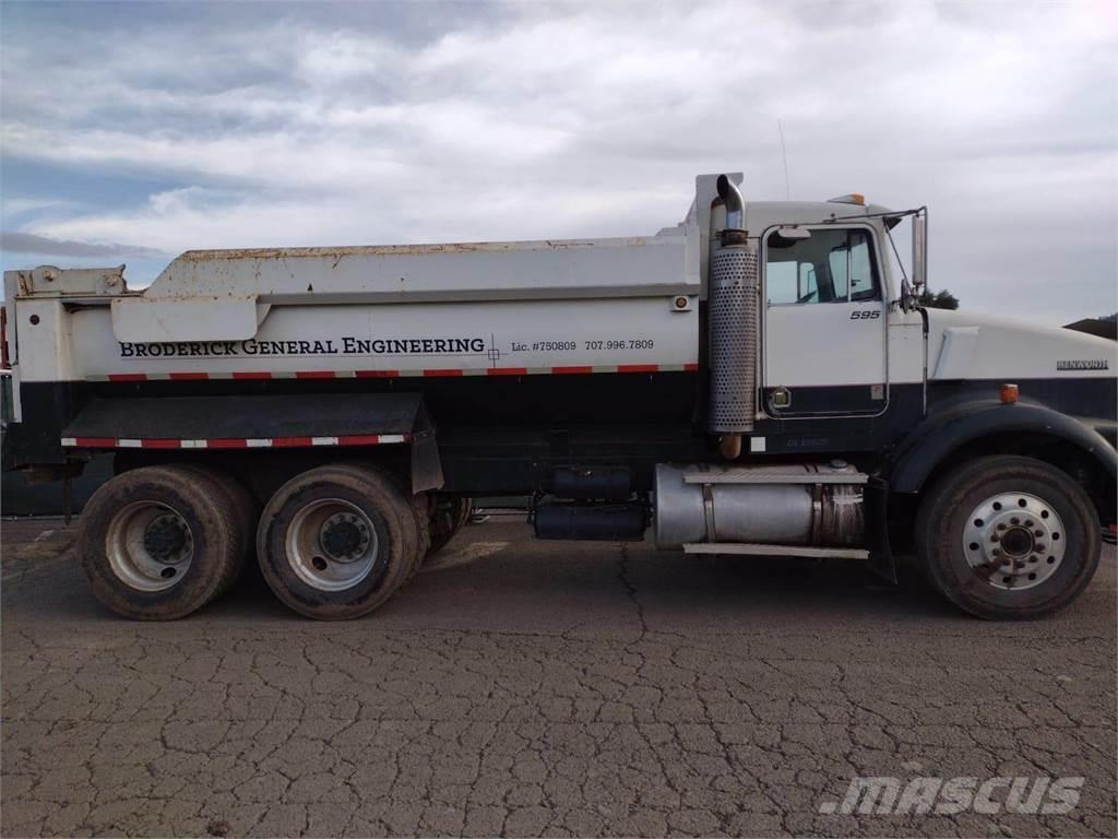
<svg viewBox="0 0 1118 839">
<path fill-rule="evenodd" d="M 250 574 L 142 624 L 72 534 L 3 522 L 4 837 L 1118 835 L 1109 546 L 1070 610 L 1011 624 L 911 572 L 499 522 L 356 622 Z M 1062 816 L 819 814 L 853 775 L 1087 780 Z"/>
</svg>

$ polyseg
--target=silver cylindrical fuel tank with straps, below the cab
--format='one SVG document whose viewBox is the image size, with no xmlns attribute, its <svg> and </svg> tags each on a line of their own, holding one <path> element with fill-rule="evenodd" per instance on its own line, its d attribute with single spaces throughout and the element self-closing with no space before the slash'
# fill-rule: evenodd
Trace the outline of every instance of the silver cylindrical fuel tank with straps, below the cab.
<svg viewBox="0 0 1118 839">
<path fill-rule="evenodd" d="M 711 480 L 704 481 L 704 477 Z M 851 482 L 841 482 L 844 478 Z M 742 468 L 660 463 L 655 477 L 656 546 L 859 545 L 864 531 L 860 478 L 864 475 L 846 464 Z"/>
</svg>

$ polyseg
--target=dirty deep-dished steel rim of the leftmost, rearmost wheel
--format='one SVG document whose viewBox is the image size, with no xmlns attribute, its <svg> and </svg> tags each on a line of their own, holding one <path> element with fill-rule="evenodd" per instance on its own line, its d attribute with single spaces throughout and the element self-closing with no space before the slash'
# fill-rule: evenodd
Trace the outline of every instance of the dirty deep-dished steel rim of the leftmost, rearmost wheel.
<svg viewBox="0 0 1118 839">
<path fill-rule="evenodd" d="M 186 576 L 195 558 L 190 526 L 178 510 L 158 501 L 121 508 L 105 535 L 113 574 L 140 592 L 165 592 Z"/>
</svg>

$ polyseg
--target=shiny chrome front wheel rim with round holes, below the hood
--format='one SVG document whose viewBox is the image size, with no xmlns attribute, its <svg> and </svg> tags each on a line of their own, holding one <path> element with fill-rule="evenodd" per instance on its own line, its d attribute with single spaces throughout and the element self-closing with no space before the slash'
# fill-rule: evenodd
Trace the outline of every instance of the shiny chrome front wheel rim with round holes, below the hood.
<svg viewBox="0 0 1118 839">
<path fill-rule="evenodd" d="M 963 555 L 988 585 L 1016 592 L 1057 572 L 1067 536 L 1050 503 L 1027 492 L 1002 492 L 972 510 L 963 529 Z"/>
</svg>

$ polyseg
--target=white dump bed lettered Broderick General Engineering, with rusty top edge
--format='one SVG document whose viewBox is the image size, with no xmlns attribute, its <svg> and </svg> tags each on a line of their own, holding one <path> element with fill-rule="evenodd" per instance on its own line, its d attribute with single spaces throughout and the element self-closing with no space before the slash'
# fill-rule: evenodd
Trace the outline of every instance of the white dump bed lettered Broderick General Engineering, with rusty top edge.
<svg viewBox="0 0 1118 839">
<path fill-rule="evenodd" d="M 684 369 L 698 361 L 692 248 L 681 229 L 193 251 L 142 292 L 111 268 L 6 279 L 23 381 Z"/>
</svg>

